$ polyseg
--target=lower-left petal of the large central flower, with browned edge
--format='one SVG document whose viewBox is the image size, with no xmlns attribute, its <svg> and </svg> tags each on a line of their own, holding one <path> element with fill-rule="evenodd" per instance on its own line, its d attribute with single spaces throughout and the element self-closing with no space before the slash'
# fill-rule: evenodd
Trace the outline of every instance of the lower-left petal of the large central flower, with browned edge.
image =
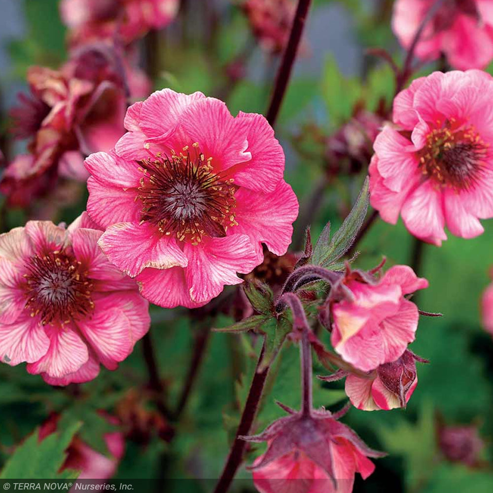
<svg viewBox="0 0 493 493">
<path fill-rule="evenodd" d="M 98 242 L 109 261 L 131 277 L 142 269 L 185 267 L 187 257 L 174 237 L 160 233 L 149 223 L 117 223 L 106 229 Z"/>
</svg>

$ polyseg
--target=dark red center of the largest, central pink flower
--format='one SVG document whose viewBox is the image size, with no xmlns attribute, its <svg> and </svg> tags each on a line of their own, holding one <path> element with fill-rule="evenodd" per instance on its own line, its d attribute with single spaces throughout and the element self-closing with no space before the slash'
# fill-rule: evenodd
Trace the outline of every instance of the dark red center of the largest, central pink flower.
<svg viewBox="0 0 493 493">
<path fill-rule="evenodd" d="M 198 244 L 202 236 L 222 237 L 235 221 L 235 192 L 232 178 L 214 173 L 211 158 L 205 159 L 194 144 L 170 157 L 156 156 L 140 161 L 142 178 L 138 198 L 141 220 L 158 226 L 178 241 Z"/>
</svg>

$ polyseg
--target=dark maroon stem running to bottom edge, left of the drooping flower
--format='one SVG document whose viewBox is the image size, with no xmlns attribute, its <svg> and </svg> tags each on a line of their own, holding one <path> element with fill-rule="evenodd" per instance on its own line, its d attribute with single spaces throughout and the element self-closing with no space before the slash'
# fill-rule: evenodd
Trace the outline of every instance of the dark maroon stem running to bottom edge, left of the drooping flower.
<svg viewBox="0 0 493 493">
<path fill-rule="evenodd" d="M 264 348 L 265 343 L 258 358 L 257 369 L 262 361 Z M 214 489 L 214 493 L 226 493 L 228 491 L 231 486 L 231 482 L 236 475 L 238 467 L 242 462 L 246 441 L 239 437 L 250 433 L 250 429 L 253 424 L 253 420 L 255 419 L 255 415 L 257 414 L 258 405 L 262 397 L 265 381 L 269 373 L 269 366 L 267 366 L 267 368 L 265 368 L 262 372 L 258 372 L 257 369 L 255 370 L 255 374 L 253 375 L 253 379 L 251 381 L 250 390 L 248 392 L 248 397 L 246 398 L 245 408 L 243 410 L 240 424 L 236 431 L 235 440 L 229 452 L 226 464 L 224 465 L 221 477 L 219 478 L 219 481 Z"/>
</svg>

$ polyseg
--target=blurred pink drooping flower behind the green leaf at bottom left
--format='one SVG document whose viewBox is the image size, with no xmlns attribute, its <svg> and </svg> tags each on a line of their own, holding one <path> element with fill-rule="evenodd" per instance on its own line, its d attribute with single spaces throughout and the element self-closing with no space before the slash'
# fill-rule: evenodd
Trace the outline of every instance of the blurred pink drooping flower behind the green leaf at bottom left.
<svg viewBox="0 0 493 493">
<path fill-rule="evenodd" d="M 119 424 L 113 416 L 104 415 L 111 424 Z M 58 428 L 60 415 L 53 414 L 39 427 L 39 441 L 55 433 Z M 109 457 L 97 452 L 87 445 L 81 438 L 75 436 L 66 450 L 66 458 L 61 471 L 66 469 L 80 471 L 77 479 L 110 479 L 118 468 L 120 460 L 125 453 L 125 439 L 120 431 L 105 433 L 103 439 L 109 453 Z"/>
</svg>

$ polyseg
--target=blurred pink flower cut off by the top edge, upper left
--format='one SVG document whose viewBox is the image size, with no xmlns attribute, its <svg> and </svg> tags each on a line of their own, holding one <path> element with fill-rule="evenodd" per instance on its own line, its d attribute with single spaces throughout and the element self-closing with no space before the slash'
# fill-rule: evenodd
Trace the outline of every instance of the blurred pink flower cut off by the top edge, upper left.
<svg viewBox="0 0 493 493">
<path fill-rule="evenodd" d="M 168 25 L 179 0 L 62 0 L 62 20 L 71 44 L 113 39 L 131 43 L 151 29 Z"/>
</svg>

